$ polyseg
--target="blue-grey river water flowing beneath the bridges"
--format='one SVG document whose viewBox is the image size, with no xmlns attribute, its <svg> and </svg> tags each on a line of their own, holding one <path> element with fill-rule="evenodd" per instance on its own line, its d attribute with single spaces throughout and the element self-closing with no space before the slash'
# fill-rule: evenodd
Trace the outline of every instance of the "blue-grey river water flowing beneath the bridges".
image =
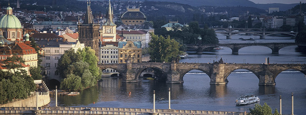
<svg viewBox="0 0 306 115">
<path fill-rule="evenodd" d="M 218 35 L 220 43 L 247 43 L 255 41 L 226 40 Z M 259 38 L 257 36 L 257 38 Z M 265 42 L 294 42 L 290 37 L 268 37 Z M 232 55 L 231 49 L 223 47 L 221 50 L 203 52 L 202 55 L 188 52 L 189 57 L 181 62 L 208 63 L 221 57 L 228 63 L 264 63 L 269 57 L 270 63 L 302 63 L 306 64 L 306 55 L 296 52 L 296 46 L 284 47 L 279 54 L 271 54 L 272 50 L 262 46 L 244 47 L 239 55 Z M 274 112 L 280 110 L 279 97 L 282 95 L 282 113 L 291 114 L 291 92 L 294 94 L 294 114 L 306 115 L 306 78 L 302 72 L 288 70 L 280 73 L 275 86 L 259 86 L 259 79 L 252 72 L 238 69 L 228 76 L 227 85 L 210 85 L 208 75 L 199 70 L 192 70 L 184 75 L 184 83 L 167 84 L 154 80 L 144 80 L 138 83 L 122 83 L 121 78 L 102 78 L 95 87 L 80 92 L 77 96 L 59 96 L 59 106 L 69 107 L 114 107 L 114 108 L 151 108 L 153 109 L 153 90 L 156 93 L 156 109 L 168 109 L 168 88 L 171 88 L 171 109 L 179 110 L 207 110 L 249 112 L 255 104 L 236 106 L 235 100 L 243 93 L 254 93 L 261 99 L 260 104 L 267 103 Z M 131 92 L 131 95 L 129 95 Z M 93 104 L 94 102 L 94 104 Z M 51 96 L 50 106 L 55 106 L 54 96 Z"/>
</svg>

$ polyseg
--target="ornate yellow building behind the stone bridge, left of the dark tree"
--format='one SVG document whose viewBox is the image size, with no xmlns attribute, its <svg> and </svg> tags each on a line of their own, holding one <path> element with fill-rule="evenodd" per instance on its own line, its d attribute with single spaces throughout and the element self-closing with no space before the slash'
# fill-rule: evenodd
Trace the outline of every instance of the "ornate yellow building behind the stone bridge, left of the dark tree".
<svg viewBox="0 0 306 115">
<path fill-rule="evenodd" d="M 118 63 L 141 63 L 141 42 L 119 42 L 118 44 Z"/>
</svg>

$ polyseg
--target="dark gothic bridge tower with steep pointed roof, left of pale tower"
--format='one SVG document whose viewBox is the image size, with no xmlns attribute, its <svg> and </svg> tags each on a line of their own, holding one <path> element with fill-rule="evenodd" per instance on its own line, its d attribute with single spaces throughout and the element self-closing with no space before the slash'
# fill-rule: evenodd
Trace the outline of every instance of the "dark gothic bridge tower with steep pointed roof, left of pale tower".
<svg viewBox="0 0 306 115">
<path fill-rule="evenodd" d="M 95 50 L 96 55 L 99 53 L 99 23 L 93 23 L 93 16 L 90 9 L 90 1 L 87 2 L 87 11 L 83 23 L 78 24 L 79 41 L 85 46 L 90 46 Z"/>
</svg>

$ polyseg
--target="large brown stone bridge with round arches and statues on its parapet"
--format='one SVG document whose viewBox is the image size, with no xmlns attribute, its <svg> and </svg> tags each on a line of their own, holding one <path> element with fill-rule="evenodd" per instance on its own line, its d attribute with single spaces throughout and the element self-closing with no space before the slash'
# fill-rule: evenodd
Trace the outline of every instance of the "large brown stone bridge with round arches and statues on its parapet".
<svg viewBox="0 0 306 115">
<path fill-rule="evenodd" d="M 294 69 L 306 74 L 306 64 L 203 64 L 203 63 L 130 63 L 102 64 L 100 69 L 116 69 L 122 75 L 122 82 L 139 82 L 141 72 L 148 68 L 158 69 L 167 76 L 167 83 L 183 83 L 183 76 L 190 70 L 201 70 L 211 79 L 210 84 L 227 84 L 227 77 L 236 69 L 253 72 L 259 85 L 275 85 L 275 78 L 284 70 Z"/>
</svg>

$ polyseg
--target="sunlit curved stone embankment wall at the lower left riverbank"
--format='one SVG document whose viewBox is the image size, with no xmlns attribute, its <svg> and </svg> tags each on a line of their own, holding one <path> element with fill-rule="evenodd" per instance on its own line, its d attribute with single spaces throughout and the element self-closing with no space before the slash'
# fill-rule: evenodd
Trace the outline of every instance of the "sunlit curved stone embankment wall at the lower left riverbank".
<svg viewBox="0 0 306 115">
<path fill-rule="evenodd" d="M 46 87 L 44 81 L 35 80 L 34 82 L 41 84 L 41 89 L 44 89 L 42 92 L 38 92 L 38 107 L 50 103 L 49 89 Z M 32 92 L 26 99 L 14 99 L 9 103 L 0 105 L 0 107 L 36 107 L 36 92 Z"/>
</svg>

